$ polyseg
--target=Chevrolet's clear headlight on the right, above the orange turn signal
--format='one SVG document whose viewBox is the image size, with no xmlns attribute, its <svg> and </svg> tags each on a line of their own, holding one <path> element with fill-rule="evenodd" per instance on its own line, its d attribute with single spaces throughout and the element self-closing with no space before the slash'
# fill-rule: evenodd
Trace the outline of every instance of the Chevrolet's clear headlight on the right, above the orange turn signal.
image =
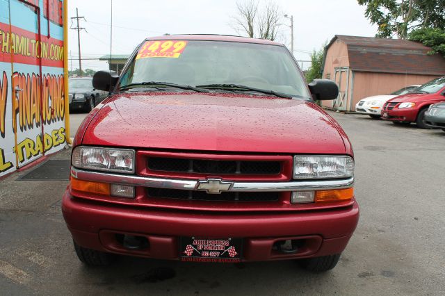
<svg viewBox="0 0 445 296">
<path fill-rule="evenodd" d="M 293 179 L 348 178 L 354 175 L 350 156 L 294 156 Z"/>
</svg>

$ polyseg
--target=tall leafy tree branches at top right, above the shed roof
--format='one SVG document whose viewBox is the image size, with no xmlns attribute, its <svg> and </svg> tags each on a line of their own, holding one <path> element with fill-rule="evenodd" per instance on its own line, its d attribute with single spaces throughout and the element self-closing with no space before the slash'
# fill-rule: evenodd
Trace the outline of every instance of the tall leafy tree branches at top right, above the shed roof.
<svg viewBox="0 0 445 296">
<path fill-rule="evenodd" d="M 445 26 L 444 0 L 357 0 L 365 16 L 378 25 L 376 37 L 406 39 L 418 28 Z"/>
</svg>

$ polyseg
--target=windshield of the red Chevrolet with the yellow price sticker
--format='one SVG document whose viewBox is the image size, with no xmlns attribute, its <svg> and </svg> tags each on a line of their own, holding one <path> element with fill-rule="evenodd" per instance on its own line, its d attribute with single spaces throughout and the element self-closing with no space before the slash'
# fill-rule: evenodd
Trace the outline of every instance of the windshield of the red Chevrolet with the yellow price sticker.
<svg viewBox="0 0 445 296">
<path fill-rule="evenodd" d="M 120 88 L 163 81 L 181 85 L 233 84 L 309 99 L 285 47 L 243 42 L 146 41 L 122 74 Z"/>
</svg>

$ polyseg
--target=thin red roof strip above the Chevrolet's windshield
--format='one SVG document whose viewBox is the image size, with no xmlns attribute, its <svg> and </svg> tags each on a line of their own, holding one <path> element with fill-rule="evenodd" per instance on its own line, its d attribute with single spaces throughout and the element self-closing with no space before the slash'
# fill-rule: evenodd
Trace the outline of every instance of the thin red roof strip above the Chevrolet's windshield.
<svg viewBox="0 0 445 296">
<path fill-rule="evenodd" d="M 281 43 L 264 39 L 248 38 L 248 37 L 241 37 L 234 35 L 211 35 L 211 34 L 162 35 L 162 36 L 149 37 L 147 38 L 147 40 L 205 40 L 205 41 L 229 41 L 229 42 L 282 45 Z"/>
</svg>

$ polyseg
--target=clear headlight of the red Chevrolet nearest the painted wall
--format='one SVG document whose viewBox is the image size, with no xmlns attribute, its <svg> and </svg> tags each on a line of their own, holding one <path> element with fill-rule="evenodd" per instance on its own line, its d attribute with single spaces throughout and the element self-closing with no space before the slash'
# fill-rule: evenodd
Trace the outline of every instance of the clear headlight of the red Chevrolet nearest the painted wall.
<svg viewBox="0 0 445 296">
<path fill-rule="evenodd" d="M 80 169 L 106 172 L 134 172 L 134 150 L 99 147 L 76 147 L 72 151 L 72 165 Z"/>
</svg>

